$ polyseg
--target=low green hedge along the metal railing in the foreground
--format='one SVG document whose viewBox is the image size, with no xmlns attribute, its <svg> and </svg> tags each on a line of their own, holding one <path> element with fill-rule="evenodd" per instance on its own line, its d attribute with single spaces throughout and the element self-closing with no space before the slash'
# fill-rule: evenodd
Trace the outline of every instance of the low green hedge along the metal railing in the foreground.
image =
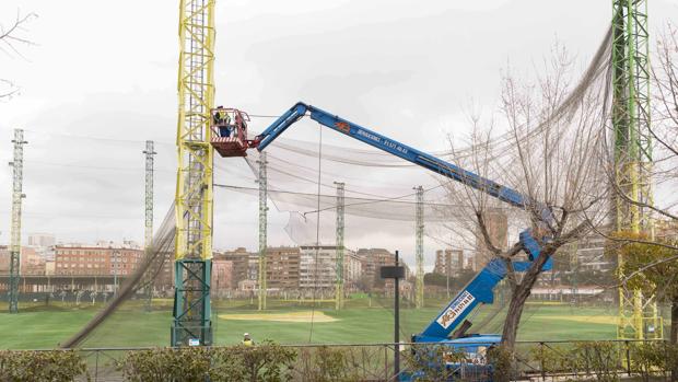
<svg viewBox="0 0 678 382">
<path fill-rule="evenodd" d="M 492 348 L 487 360 L 495 375 L 523 372 L 566 374 L 569 380 L 615 382 L 629 368 L 650 381 L 652 375 L 668 375 L 678 370 L 678 346 L 668 343 L 582 342 L 559 345 L 530 345 L 515 357 L 502 347 Z M 388 352 L 372 352 L 352 347 L 282 347 L 264 342 L 254 347 L 157 348 L 131 350 L 117 362 L 119 372 L 130 382 L 278 382 L 355 381 L 364 368 L 379 370 Z M 470 362 L 467 355 L 446 347 L 424 345 L 401 354 L 405 369 L 419 370 L 422 380 L 439 381 L 452 377 L 445 362 Z M 371 359 L 373 358 L 373 359 Z M 628 362 L 628 361 L 629 362 Z M 367 362 L 367 363 L 365 363 Z M 383 370 L 383 369 L 381 369 Z M 0 351 L 0 382 L 87 381 L 83 356 L 72 350 Z"/>
</svg>

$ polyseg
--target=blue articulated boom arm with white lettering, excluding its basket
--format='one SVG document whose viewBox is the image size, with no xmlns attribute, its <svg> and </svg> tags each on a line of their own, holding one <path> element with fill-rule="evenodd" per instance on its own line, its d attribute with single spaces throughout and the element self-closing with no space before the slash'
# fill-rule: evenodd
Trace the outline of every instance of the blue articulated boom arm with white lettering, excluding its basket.
<svg viewBox="0 0 678 382">
<path fill-rule="evenodd" d="M 358 124 L 342 119 L 334 114 L 322 111 L 317 107 L 297 103 L 285 114 L 280 116 L 261 135 L 257 136 L 252 143 L 253 147 L 261 151 L 266 149 L 276 138 L 278 138 L 292 124 L 300 120 L 306 114 L 320 125 L 342 132 L 351 138 L 363 141 L 379 150 L 399 157 L 406 161 L 418 164 L 437 174 L 449 177 L 457 182 L 480 189 L 498 199 L 512 206 L 524 208 L 530 202 L 529 198 L 521 193 L 504 187 L 495 182 L 477 175 L 472 172 L 460 169 L 452 163 L 421 152 L 407 144 L 402 144 L 393 139 L 386 138 L 377 132 L 366 129 Z M 542 209 L 545 217 L 550 217 L 546 208 Z M 527 253 L 529 262 L 513 262 L 513 267 L 517 271 L 525 271 L 531 262 L 540 254 L 539 243 L 533 238 L 529 230 L 521 233 L 521 245 Z M 543 270 L 550 269 L 551 259 L 548 259 Z M 429 324 L 419 335 L 413 337 L 414 342 L 441 342 L 449 337 L 452 331 L 458 326 L 468 314 L 481 303 L 492 303 L 494 299 L 494 287 L 506 277 L 507 265 L 505 261 L 492 259 L 476 277 L 457 294 L 449 304 Z"/>
</svg>

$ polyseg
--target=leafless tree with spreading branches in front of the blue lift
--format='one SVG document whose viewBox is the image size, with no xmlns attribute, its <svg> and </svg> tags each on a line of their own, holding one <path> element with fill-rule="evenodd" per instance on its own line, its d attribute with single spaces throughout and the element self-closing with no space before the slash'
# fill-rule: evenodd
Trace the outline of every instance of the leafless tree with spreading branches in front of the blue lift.
<svg viewBox="0 0 678 382">
<path fill-rule="evenodd" d="M 601 45 L 576 86 L 570 80 L 573 60 L 558 46 L 545 61 L 545 74 L 534 83 L 505 76 L 496 116 L 489 123 L 477 114 L 470 118 L 471 150 L 455 151 L 451 142 L 460 167 L 525 196 L 522 206 L 510 208 L 476 187 L 445 183 L 453 204 L 463 205 L 467 216 L 449 228 L 484 246 L 488 261 L 504 261 L 508 269 L 512 294 L 502 338 L 510 349 L 525 302 L 548 258 L 607 218 L 608 186 L 600 165 L 608 108 L 606 49 Z M 507 131 L 500 138 L 492 134 L 498 126 Z M 542 247 L 524 274 L 512 265 L 525 255 L 522 246 L 496 240 L 492 220 L 498 211 L 506 217 L 510 229 L 529 228 Z"/>
</svg>

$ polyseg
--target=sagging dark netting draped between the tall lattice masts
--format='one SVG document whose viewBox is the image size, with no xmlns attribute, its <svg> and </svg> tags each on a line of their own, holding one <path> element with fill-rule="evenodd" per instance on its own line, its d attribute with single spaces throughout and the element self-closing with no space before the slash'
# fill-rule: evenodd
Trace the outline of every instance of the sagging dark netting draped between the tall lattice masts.
<svg viewBox="0 0 678 382">
<path fill-rule="evenodd" d="M 522 130 L 523 136 L 515 137 L 510 132 L 502 132 L 489 144 L 484 142 L 483 148 L 471 144 L 461 149 L 432 151 L 431 154 L 458 162 L 470 159 L 480 149 L 489 148 L 493 161 L 498 163 L 506 161 L 512 154 L 512 144 L 516 139 L 529 141 L 531 137 L 538 136 L 552 126 L 556 120 L 565 120 L 593 88 L 609 84 L 610 49 L 611 28 L 607 31 L 578 82 L 572 86 L 561 104 L 540 124 L 531 129 Z M 350 116 L 346 117 L 350 119 Z M 253 126 L 257 129 L 264 127 Z M 260 155 L 255 150 L 250 151 L 245 158 L 250 172 L 236 174 L 239 177 L 238 182 L 215 183 L 215 198 L 223 197 L 222 193 L 237 193 L 256 200 L 258 188 L 252 186 L 252 183 L 249 186 L 243 185 L 244 182 L 255 181 L 258 174 Z M 453 199 L 449 198 L 449 189 L 444 186 L 446 181 L 440 175 L 428 173 L 409 162 L 376 149 L 341 146 L 335 142 L 324 143 L 320 147 L 317 141 L 282 137 L 266 151 L 268 199 L 277 211 L 289 215 L 285 232 L 297 245 L 317 241 L 335 243 L 337 208 L 335 182 L 342 182 L 346 184 L 344 213 L 348 247 L 360 247 L 365 243 L 373 243 L 373 246 L 388 246 L 388 243 L 375 241 L 382 238 L 379 233 L 388 232 L 391 238 L 395 235 L 411 242 L 411 248 L 414 243 L 413 227 L 417 206 L 412 187 L 422 185 L 425 189 L 423 202 L 425 234 L 437 247 L 452 244 L 461 250 L 472 251 L 472 238 L 469 238 L 466 243 L 456 244 L 445 238 L 445 228 L 455 221 L 463 222 L 468 219 L 469 213 L 466 206 L 451 201 Z M 317 166 L 318 163 L 320 167 Z M 215 159 L 214 167 L 215 171 L 220 171 L 226 170 L 227 166 L 223 161 Z M 504 206 L 498 206 L 498 208 L 510 210 Z M 319 231 L 317 231 L 318 227 Z M 515 240 L 516 234 L 517 230 L 510 232 L 510 241 Z M 173 262 L 174 235 L 175 216 L 174 207 L 172 207 L 161 227 L 157 228 L 153 247 L 147 251 L 141 266 L 126 280 L 117 296 L 62 346 L 156 345 L 137 344 L 133 340 L 130 344 L 128 339 L 125 344 L 118 344 L 116 338 L 117 333 L 124 331 L 126 325 L 139 324 L 129 322 L 128 312 L 142 309 L 139 302 L 140 292 L 148 282 L 152 282 L 157 277 L 163 264 Z M 411 264 L 411 254 L 406 259 Z M 501 320 L 498 317 L 501 317 L 502 308 L 502 304 L 494 306 L 493 311 L 482 320 L 484 325 L 479 326 L 496 331 L 498 325 L 501 325 Z M 526 314 L 526 317 L 529 319 L 529 314 Z M 170 320 L 168 314 L 164 314 L 163 319 Z M 168 336 L 168 321 L 164 322 L 167 324 Z"/>
</svg>

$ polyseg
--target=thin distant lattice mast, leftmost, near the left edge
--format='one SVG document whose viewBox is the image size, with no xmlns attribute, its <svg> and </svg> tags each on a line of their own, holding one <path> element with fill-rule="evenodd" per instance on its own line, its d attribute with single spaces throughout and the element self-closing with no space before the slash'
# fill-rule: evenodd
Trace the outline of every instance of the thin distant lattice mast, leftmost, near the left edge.
<svg viewBox="0 0 678 382">
<path fill-rule="evenodd" d="M 12 225 L 10 232 L 10 313 L 19 313 L 19 278 L 21 271 L 21 202 L 24 171 L 24 130 L 14 129 L 14 159 L 12 166 Z"/>
</svg>

